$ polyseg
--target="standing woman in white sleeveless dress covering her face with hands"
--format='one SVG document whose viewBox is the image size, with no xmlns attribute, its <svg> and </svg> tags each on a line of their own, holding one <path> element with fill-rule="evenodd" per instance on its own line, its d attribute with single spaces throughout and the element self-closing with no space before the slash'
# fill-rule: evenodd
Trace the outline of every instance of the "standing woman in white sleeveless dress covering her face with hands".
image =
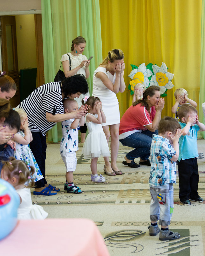
<svg viewBox="0 0 205 256">
<path fill-rule="evenodd" d="M 109 158 L 104 157 L 104 171 L 111 176 L 122 174 L 117 167 L 120 110 L 116 93 L 123 93 L 125 90 L 124 69 L 124 53 L 120 49 L 114 49 L 108 52 L 107 57 L 93 74 L 92 96 L 99 97 L 102 102 L 102 109 L 106 116 L 106 123 L 102 126 L 107 142 L 111 135 L 111 164 Z"/>
</svg>

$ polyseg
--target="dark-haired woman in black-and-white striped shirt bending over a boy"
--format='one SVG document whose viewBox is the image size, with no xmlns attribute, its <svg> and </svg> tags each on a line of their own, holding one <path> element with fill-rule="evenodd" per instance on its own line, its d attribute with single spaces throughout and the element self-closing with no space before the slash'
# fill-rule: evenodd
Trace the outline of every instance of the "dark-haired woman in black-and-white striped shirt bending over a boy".
<svg viewBox="0 0 205 256">
<path fill-rule="evenodd" d="M 74 75 L 62 82 L 51 82 L 38 87 L 17 106 L 24 109 L 28 116 L 29 129 L 33 136 L 30 148 L 44 176 L 44 179 L 36 182 L 34 194 L 54 195 L 59 191 L 56 187 L 47 184 L 45 179 L 47 147 L 45 135 L 58 122 L 82 117 L 84 114 L 82 108 L 64 114 L 63 100 L 67 97 L 73 99 L 87 92 L 88 85 L 85 77 Z"/>
</svg>

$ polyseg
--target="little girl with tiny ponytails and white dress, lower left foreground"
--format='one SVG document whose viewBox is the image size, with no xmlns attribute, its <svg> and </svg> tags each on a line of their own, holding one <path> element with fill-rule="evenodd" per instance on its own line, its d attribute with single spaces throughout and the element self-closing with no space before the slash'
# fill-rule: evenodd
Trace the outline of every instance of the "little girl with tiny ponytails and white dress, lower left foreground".
<svg viewBox="0 0 205 256">
<path fill-rule="evenodd" d="M 34 186 L 34 179 L 31 175 L 34 174 L 35 169 L 33 166 L 26 165 L 21 160 L 16 160 L 14 157 L 10 161 L 3 162 L 1 178 L 9 182 L 20 196 L 20 205 L 17 211 L 17 218 L 25 219 L 45 219 L 48 214 L 40 205 L 32 204 L 31 191 L 28 186 Z"/>
</svg>

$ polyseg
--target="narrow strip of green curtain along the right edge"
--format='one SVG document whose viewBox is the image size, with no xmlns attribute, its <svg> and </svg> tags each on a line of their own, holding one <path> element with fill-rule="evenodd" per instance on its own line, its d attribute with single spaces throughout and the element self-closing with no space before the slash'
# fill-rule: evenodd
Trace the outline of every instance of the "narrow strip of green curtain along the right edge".
<svg viewBox="0 0 205 256">
<path fill-rule="evenodd" d="M 201 72 L 200 72 L 200 94 L 199 94 L 199 121 L 204 123 L 202 103 L 205 102 L 205 0 L 202 0 L 202 34 L 201 34 Z M 205 139 L 205 132 L 201 132 Z"/>
</svg>

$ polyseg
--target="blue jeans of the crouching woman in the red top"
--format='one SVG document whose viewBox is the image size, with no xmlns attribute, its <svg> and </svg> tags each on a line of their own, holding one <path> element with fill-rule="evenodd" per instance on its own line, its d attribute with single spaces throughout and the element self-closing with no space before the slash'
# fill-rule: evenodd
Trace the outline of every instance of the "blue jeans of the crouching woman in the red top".
<svg viewBox="0 0 205 256">
<path fill-rule="evenodd" d="M 126 158 L 134 160 L 140 157 L 142 160 L 147 160 L 150 156 L 150 147 L 152 143 L 152 135 L 158 134 L 158 130 L 150 132 L 149 130 L 135 132 L 125 139 L 120 139 L 123 146 L 134 147 L 135 149 L 126 154 Z"/>
</svg>

